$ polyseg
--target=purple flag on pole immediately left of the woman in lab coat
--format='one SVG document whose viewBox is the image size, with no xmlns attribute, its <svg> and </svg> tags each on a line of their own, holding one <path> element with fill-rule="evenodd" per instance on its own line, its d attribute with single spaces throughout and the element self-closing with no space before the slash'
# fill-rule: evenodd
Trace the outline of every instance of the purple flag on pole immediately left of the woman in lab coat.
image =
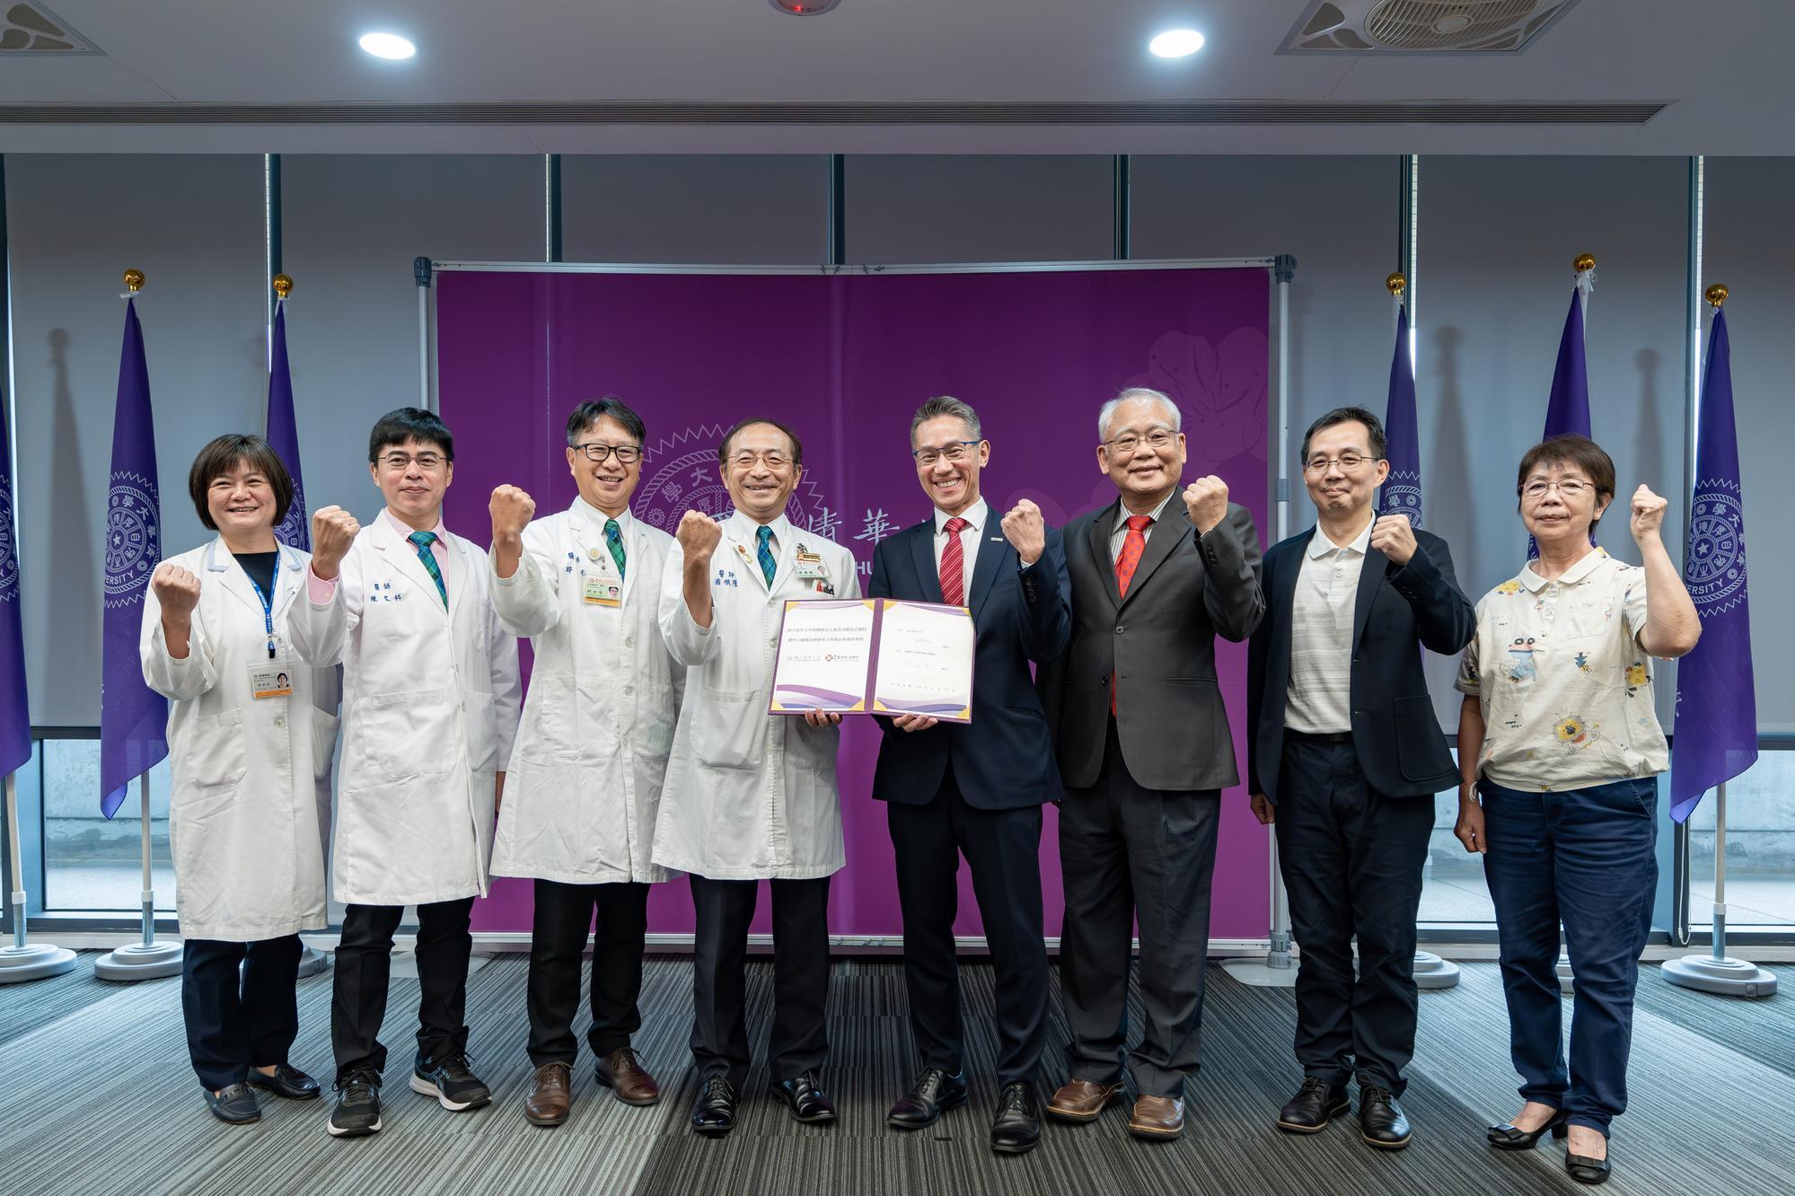
<svg viewBox="0 0 1795 1196">
<path fill-rule="evenodd" d="M 136 641 L 144 591 L 162 560 L 156 424 L 136 300 L 124 309 L 113 467 L 106 490 L 106 634 L 101 679 L 101 812 L 111 817 L 131 779 L 169 754 L 169 702 L 144 684 Z"/>
</svg>

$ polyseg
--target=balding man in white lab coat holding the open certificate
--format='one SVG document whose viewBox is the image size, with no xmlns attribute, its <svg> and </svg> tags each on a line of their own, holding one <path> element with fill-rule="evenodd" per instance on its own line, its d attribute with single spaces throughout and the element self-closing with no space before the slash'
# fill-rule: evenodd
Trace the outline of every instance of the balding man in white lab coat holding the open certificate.
<svg viewBox="0 0 1795 1196">
<path fill-rule="evenodd" d="M 661 580 L 661 630 L 687 666 L 655 864 L 691 875 L 696 910 L 691 1124 L 736 1124 L 749 1074 L 743 964 L 759 880 L 772 882 L 772 1092 L 797 1121 L 835 1121 L 819 1070 L 829 1054 L 829 875 L 842 867 L 835 787 L 840 715 L 770 717 L 784 603 L 858 598 L 853 555 L 786 519 L 804 449 L 777 420 L 743 420 L 718 447 L 736 510 L 686 512 Z"/>
</svg>

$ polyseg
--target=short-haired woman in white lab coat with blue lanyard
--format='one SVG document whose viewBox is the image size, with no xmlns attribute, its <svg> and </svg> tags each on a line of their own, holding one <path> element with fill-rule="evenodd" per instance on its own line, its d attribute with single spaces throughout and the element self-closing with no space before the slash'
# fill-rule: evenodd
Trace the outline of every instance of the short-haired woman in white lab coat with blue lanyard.
<svg viewBox="0 0 1795 1196">
<path fill-rule="evenodd" d="M 187 1045 L 214 1115 L 241 1124 L 260 1117 L 251 1085 L 318 1095 L 287 1049 L 300 1027 L 298 932 L 325 928 L 337 682 L 289 652 L 309 555 L 275 541 L 293 503 L 275 451 L 219 436 L 188 490 L 219 535 L 156 567 L 140 655 L 144 681 L 169 699 Z"/>
</svg>

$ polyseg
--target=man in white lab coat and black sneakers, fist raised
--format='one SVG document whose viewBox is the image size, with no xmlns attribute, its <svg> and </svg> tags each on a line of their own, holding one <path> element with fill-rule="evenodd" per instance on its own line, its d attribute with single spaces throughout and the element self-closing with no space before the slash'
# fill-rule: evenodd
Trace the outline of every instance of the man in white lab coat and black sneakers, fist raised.
<svg viewBox="0 0 1795 1196">
<path fill-rule="evenodd" d="M 381 1128 L 379 1033 L 407 905 L 422 989 L 411 1090 L 451 1112 L 492 1099 L 467 1065 L 468 916 L 488 889 L 519 697 L 517 639 L 492 609 L 486 555 L 442 521 L 449 429 L 418 408 L 388 411 L 368 436 L 368 472 L 386 510 L 366 528 L 339 506 L 312 515 L 307 594 L 287 616 L 302 661 L 343 664 L 334 1137 Z"/>
</svg>

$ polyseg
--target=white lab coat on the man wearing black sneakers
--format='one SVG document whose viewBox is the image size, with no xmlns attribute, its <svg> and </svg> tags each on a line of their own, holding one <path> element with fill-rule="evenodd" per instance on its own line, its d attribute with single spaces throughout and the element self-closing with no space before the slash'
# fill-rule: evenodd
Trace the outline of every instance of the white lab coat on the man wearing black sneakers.
<svg viewBox="0 0 1795 1196">
<path fill-rule="evenodd" d="M 328 602 L 303 594 L 300 659 L 343 664 L 330 885 L 350 905 L 486 896 L 494 774 L 517 729 L 517 639 L 492 609 L 486 555 L 449 533 L 449 609 L 416 550 L 377 517 Z"/>
</svg>

